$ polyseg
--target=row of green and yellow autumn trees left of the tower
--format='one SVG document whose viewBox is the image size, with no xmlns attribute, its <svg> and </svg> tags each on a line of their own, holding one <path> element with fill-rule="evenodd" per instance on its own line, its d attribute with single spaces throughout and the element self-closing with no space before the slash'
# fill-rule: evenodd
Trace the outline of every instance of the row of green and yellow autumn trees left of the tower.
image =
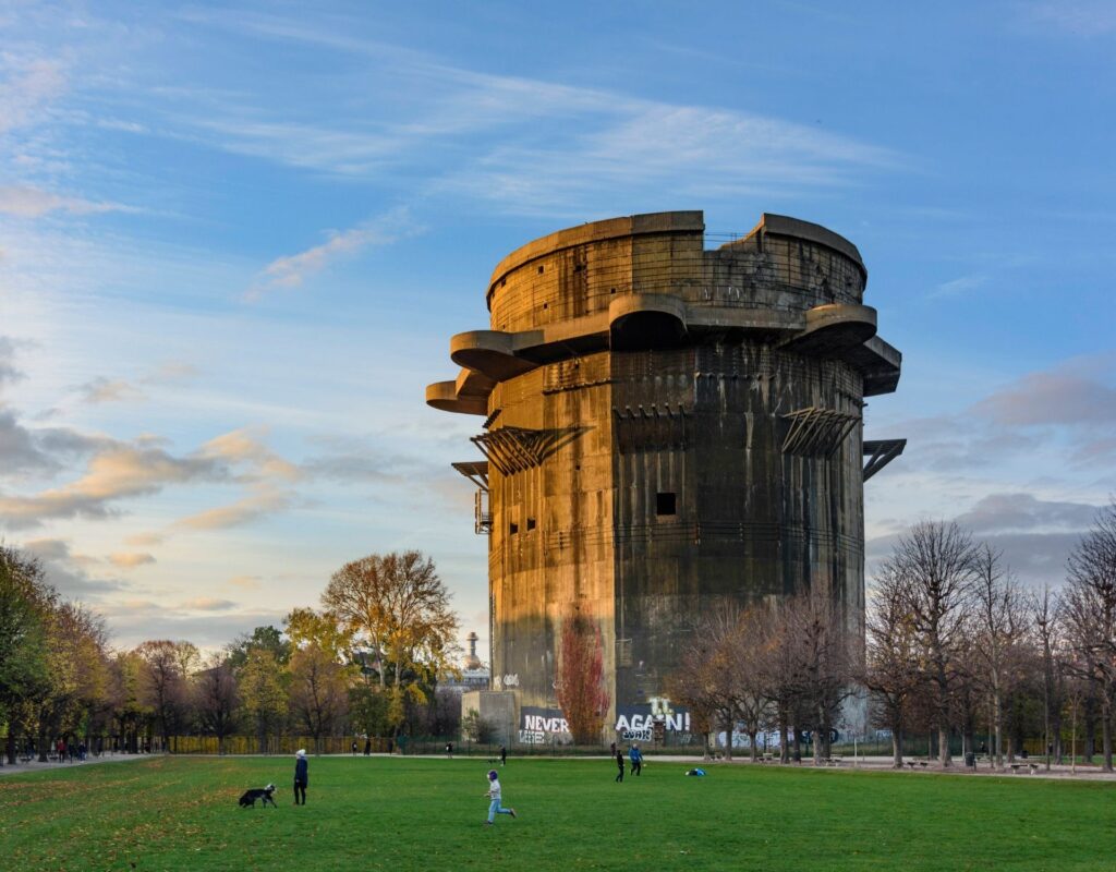
<svg viewBox="0 0 1116 872">
<path fill-rule="evenodd" d="M 190 642 L 107 644 L 104 622 L 61 601 L 41 566 L 0 547 L 0 724 L 45 759 L 56 738 L 113 736 L 137 750 L 160 737 L 252 734 L 320 740 L 448 732 L 460 715 L 436 693 L 458 653 L 456 619 L 433 562 L 373 555 L 338 569 L 321 609 L 295 609 L 202 657 Z"/>
</svg>

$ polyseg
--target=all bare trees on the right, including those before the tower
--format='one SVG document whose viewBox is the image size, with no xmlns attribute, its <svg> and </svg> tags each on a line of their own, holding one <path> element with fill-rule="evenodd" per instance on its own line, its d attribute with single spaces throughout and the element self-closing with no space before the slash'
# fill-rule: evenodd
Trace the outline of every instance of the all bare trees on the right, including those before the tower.
<svg viewBox="0 0 1116 872">
<path fill-rule="evenodd" d="M 1110 772 L 1116 502 L 1067 568 L 1056 592 L 1026 590 L 988 544 L 953 524 L 920 524 L 876 572 L 863 638 L 822 592 L 728 610 L 700 629 L 671 693 L 698 729 L 742 727 L 753 757 L 766 730 L 781 734 L 785 760 L 807 731 L 815 756 L 827 756 L 843 702 L 863 689 L 872 720 L 892 734 L 896 766 L 914 731 L 936 732 L 943 766 L 951 738 L 975 750 L 988 735 L 998 767 L 1026 737 L 1060 760 L 1080 736 L 1091 758 L 1099 732 Z"/>
</svg>

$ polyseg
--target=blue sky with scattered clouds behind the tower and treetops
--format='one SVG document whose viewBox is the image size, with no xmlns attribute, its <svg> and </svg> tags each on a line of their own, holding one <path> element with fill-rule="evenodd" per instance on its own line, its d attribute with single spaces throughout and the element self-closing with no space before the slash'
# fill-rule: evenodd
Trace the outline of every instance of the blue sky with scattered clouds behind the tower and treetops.
<svg viewBox="0 0 1116 872">
<path fill-rule="evenodd" d="M 422 396 L 493 266 L 768 211 L 904 354 L 869 554 L 959 518 L 1057 584 L 1116 492 L 1116 6 L 843 7 L 0 2 L 0 535 L 122 645 L 404 547 L 483 634 L 477 422 Z"/>
</svg>

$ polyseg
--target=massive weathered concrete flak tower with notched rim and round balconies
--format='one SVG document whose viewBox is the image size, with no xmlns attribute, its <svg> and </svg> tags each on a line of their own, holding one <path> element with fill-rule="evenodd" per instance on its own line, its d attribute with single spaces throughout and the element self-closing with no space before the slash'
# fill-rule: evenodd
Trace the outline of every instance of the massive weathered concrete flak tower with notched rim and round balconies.
<svg viewBox="0 0 1116 872">
<path fill-rule="evenodd" d="M 521 728 L 558 709 L 574 616 L 599 630 L 609 727 L 662 709 L 724 602 L 824 590 L 863 631 L 864 481 L 904 445 L 863 440 L 864 397 L 895 390 L 901 355 L 848 240 L 775 214 L 715 248 L 704 231 L 662 212 L 513 251 L 491 328 L 454 336 L 456 380 L 426 389 L 481 421 L 484 459 L 454 467 L 479 488 L 493 686 Z"/>
</svg>

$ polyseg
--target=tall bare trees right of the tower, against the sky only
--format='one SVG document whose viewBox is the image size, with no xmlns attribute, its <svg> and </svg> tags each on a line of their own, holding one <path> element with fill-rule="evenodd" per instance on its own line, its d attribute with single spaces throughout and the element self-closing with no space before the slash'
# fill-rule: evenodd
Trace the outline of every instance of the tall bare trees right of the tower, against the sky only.
<svg viewBox="0 0 1116 872">
<path fill-rule="evenodd" d="M 954 525 L 916 526 L 876 575 L 858 677 L 896 765 L 912 729 L 936 730 L 945 766 L 950 736 L 973 749 L 983 726 L 1002 767 L 1028 735 L 1061 759 L 1068 728 L 1070 753 L 1081 735 L 1088 758 L 1099 731 L 1112 772 L 1116 504 L 1074 549 L 1057 591 L 1026 590 L 1002 554 Z"/>
</svg>

